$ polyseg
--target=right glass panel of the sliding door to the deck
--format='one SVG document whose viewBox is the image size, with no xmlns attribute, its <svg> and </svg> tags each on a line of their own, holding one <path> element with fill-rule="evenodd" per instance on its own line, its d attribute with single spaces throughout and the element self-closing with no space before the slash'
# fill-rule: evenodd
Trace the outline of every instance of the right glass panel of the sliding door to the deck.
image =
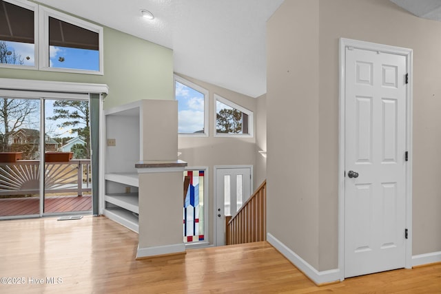
<svg viewBox="0 0 441 294">
<path fill-rule="evenodd" d="M 88 101 L 45 100 L 44 213 L 92 210 Z"/>
</svg>

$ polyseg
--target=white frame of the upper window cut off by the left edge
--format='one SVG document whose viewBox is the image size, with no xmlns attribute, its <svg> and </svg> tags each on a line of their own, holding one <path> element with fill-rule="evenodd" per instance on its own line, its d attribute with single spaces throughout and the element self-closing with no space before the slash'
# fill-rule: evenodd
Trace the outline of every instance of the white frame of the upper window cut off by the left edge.
<svg viewBox="0 0 441 294">
<path fill-rule="evenodd" d="M 34 12 L 34 65 L 19 65 L 0 63 L 1 68 L 14 68 L 22 70 L 38 70 L 39 69 L 39 5 L 30 1 L 21 0 L 3 0 L 5 2 L 14 4 L 21 8 L 32 10 Z"/>
</svg>

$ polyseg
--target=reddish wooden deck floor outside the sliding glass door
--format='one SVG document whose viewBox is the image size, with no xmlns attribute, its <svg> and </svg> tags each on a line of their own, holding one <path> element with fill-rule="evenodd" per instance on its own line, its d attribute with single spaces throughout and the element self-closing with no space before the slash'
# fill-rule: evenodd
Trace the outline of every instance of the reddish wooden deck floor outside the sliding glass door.
<svg viewBox="0 0 441 294">
<path fill-rule="evenodd" d="M 0 199 L 0 216 L 39 214 L 38 197 Z M 92 196 L 49 196 L 45 198 L 45 213 L 92 210 Z"/>
</svg>

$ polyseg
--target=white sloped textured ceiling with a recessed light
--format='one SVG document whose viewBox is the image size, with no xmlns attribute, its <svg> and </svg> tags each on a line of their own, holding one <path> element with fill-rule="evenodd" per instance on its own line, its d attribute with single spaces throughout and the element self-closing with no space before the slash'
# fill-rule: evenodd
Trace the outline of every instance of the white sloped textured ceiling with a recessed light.
<svg viewBox="0 0 441 294">
<path fill-rule="evenodd" d="M 257 97 L 266 93 L 266 21 L 283 0 L 40 0 L 174 50 L 174 71 Z M 146 21 L 141 9 L 155 19 Z"/>
</svg>

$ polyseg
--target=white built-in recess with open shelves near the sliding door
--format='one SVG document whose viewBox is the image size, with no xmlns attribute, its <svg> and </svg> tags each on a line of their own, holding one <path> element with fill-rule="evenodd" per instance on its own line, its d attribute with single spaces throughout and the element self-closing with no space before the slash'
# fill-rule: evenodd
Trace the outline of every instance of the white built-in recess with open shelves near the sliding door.
<svg viewBox="0 0 441 294">
<path fill-rule="evenodd" d="M 107 109 L 105 138 L 115 144 L 105 146 L 105 191 L 103 191 L 103 214 L 123 226 L 139 232 L 138 192 L 122 193 L 125 187 L 139 187 L 139 176 L 134 167 L 140 156 L 140 109 L 141 102 L 129 103 Z"/>
</svg>

